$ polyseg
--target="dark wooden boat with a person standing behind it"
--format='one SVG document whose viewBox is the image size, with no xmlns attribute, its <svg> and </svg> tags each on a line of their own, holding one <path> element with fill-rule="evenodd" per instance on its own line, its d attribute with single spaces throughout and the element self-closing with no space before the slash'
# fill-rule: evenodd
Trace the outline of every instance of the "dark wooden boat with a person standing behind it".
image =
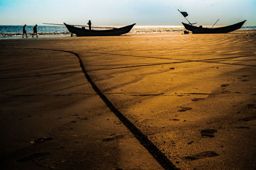
<svg viewBox="0 0 256 170">
<path fill-rule="evenodd" d="M 65 24 L 65 23 L 64 23 Z M 105 30 L 89 30 L 84 27 L 74 27 L 73 25 L 65 24 L 68 31 L 76 34 L 76 36 L 119 36 L 131 31 L 135 24 L 127 25 L 125 27 L 105 29 Z"/>
</svg>

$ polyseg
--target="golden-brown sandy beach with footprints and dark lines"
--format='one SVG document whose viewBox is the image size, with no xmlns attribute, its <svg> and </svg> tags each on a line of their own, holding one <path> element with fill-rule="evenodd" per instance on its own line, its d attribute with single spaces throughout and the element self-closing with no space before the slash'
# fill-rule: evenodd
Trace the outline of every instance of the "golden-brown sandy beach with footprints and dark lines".
<svg viewBox="0 0 256 170">
<path fill-rule="evenodd" d="M 253 31 L 0 39 L 0 53 L 3 169 L 256 168 Z"/>
</svg>

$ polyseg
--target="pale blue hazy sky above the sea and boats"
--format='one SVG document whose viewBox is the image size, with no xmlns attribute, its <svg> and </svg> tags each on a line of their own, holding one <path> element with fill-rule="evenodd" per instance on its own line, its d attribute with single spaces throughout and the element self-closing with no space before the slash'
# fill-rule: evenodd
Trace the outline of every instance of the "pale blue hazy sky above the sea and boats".
<svg viewBox="0 0 256 170">
<path fill-rule="evenodd" d="M 256 25 L 256 0 L 0 0 L 0 25 Z"/>
</svg>

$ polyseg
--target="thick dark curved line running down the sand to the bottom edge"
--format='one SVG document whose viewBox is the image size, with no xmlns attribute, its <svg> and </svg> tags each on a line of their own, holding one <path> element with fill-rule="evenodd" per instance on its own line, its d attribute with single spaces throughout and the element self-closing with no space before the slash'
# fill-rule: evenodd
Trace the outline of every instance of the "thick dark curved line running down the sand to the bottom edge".
<svg viewBox="0 0 256 170">
<path fill-rule="evenodd" d="M 28 50 L 51 50 L 56 52 L 67 52 L 72 53 L 73 55 L 76 55 L 77 59 L 79 60 L 80 67 L 84 73 L 85 78 L 87 81 L 92 85 L 93 90 L 100 96 L 102 101 L 108 106 L 108 108 L 118 117 L 118 119 L 129 129 L 129 131 L 132 132 L 134 137 L 138 139 L 140 144 L 148 150 L 148 152 L 154 157 L 155 160 L 164 168 L 164 169 L 177 169 L 175 165 L 162 153 L 150 139 L 147 138 L 143 132 L 140 131 L 130 120 L 128 120 L 127 117 L 124 116 L 112 103 L 109 101 L 109 99 L 100 91 L 100 89 L 95 85 L 95 83 L 92 81 L 92 78 L 90 78 L 89 74 L 87 73 L 86 69 L 84 68 L 83 61 L 81 60 L 81 57 L 75 53 L 70 52 L 66 50 L 54 50 L 54 49 L 44 49 L 44 48 L 25 48 Z"/>
</svg>

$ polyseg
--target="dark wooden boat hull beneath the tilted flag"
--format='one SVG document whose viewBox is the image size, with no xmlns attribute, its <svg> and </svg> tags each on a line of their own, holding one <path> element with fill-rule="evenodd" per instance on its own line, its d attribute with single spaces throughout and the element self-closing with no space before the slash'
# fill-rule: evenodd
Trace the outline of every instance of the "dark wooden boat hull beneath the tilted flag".
<svg viewBox="0 0 256 170">
<path fill-rule="evenodd" d="M 227 33 L 231 31 L 235 31 L 242 27 L 242 25 L 246 22 L 246 20 L 242 22 L 238 22 L 237 24 L 228 25 L 225 27 L 218 27 L 218 28 L 204 28 L 202 26 L 196 27 L 193 25 L 185 24 L 182 22 L 184 27 L 188 29 L 189 31 L 192 31 L 193 34 L 219 34 L 219 33 Z"/>
</svg>

